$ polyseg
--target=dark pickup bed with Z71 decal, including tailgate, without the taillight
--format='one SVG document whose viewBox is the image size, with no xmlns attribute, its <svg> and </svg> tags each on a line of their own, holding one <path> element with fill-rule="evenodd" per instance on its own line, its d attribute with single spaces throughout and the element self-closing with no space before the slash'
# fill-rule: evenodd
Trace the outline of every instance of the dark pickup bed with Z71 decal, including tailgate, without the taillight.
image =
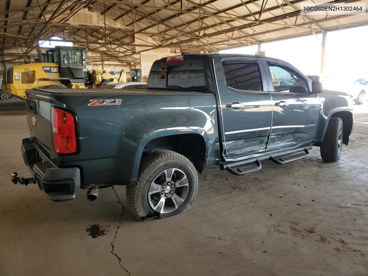
<svg viewBox="0 0 368 276">
<path fill-rule="evenodd" d="M 26 91 L 26 95 L 33 144 L 54 166 L 78 167 L 81 188 L 134 181 L 146 144 L 178 132 L 205 135 L 211 146 L 217 143 L 217 152 L 210 158 L 218 158 L 216 102 L 211 93 L 156 89 L 33 89 Z M 54 107 L 68 110 L 75 116 L 76 154 L 58 155 L 54 151 L 50 115 Z"/>
</svg>

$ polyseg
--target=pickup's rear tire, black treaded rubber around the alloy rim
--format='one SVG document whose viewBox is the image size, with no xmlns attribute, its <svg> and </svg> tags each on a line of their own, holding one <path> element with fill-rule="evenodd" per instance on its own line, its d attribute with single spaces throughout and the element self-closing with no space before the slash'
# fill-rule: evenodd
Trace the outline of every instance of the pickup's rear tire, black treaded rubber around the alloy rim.
<svg viewBox="0 0 368 276">
<path fill-rule="evenodd" d="M 184 171 L 188 178 L 188 194 L 183 204 L 170 213 L 160 214 L 148 202 L 148 188 L 151 181 L 163 170 L 176 168 Z M 137 182 L 127 185 L 126 197 L 130 210 L 138 220 L 170 217 L 188 210 L 193 205 L 198 192 L 198 175 L 193 164 L 183 155 L 174 151 L 156 151 L 141 161 Z"/>
</svg>

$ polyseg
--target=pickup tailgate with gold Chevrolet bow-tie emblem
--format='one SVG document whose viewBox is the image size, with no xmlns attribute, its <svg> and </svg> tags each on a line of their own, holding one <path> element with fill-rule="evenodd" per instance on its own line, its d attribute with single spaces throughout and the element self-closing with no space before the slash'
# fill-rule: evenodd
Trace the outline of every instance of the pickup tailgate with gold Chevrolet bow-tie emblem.
<svg viewBox="0 0 368 276">
<path fill-rule="evenodd" d="M 54 158 L 50 96 L 45 93 L 39 94 L 34 90 L 28 92 L 26 115 L 29 134 L 33 142 L 47 157 Z"/>
</svg>

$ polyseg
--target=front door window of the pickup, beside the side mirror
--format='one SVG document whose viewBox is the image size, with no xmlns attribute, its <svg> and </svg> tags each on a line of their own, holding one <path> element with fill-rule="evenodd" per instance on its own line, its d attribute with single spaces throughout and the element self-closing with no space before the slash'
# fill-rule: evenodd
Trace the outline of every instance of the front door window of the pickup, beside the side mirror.
<svg viewBox="0 0 368 276">
<path fill-rule="evenodd" d="M 274 91 L 290 92 L 290 88 L 294 86 L 304 86 L 305 92 L 307 92 L 306 80 L 300 74 L 295 72 L 293 69 L 286 66 L 274 64 L 269 64 L 268 66 L 273 81 Z"/>
</svg>

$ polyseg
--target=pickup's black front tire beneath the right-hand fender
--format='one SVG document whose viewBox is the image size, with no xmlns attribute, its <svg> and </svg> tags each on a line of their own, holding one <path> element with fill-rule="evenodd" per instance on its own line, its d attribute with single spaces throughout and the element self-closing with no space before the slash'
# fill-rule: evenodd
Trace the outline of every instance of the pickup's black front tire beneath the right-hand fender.
<svg viewBox="0 0 368 276">
<path fill-rule="evenodd" d="M 323 161 L 337 162 L 341 158 L 341 149 L 339 150 L 339 130 L 341 128 L 342 133 L 343 121 L 341 118 L 332 117 L 327 126 L 325 137 L 321 143 L 320 151 L 321 158 Z M 341 147 L 342 148 L 342 143 Z"/>
</svg>

